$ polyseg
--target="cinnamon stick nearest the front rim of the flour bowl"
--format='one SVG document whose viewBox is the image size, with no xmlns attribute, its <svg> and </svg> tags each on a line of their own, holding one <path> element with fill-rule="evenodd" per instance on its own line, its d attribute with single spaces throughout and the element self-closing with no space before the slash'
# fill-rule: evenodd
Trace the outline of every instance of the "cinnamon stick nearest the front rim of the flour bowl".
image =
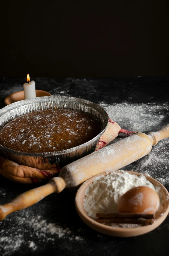
<svg viewBox="0 0 169 256">
<path fill-rule="evenodd" d="M 154 222 L 153 218 L 145 219 L 145 218 L 97 218 L 97 222 L 99 223 L 127 223 L 127 224 L 141 224 L 151 225 Z"/>
</svg>

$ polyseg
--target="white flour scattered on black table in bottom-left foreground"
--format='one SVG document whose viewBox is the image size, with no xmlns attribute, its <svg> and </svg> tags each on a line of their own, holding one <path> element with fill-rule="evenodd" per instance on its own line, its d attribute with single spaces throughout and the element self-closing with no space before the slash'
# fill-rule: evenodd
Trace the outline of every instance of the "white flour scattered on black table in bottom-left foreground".
<svg viewBox="0 0 169 256">
<path fill-rule="evenodd" d="M 29 209 L 22 217 L 7 217 L 7 228 L 0 222 L 0 255 L 12 255 L 26 246 L 26 250 L 38 250 L 46 245 L 53 245 L 60 239 L 82 242 L 81 236 L 75 235 L 69 228 L 56 223 L 48 223 L 42 216 L 33 216 Z M 17 225 L 16 225 L 17 224 Z M 33 241 L 33 237 L 36 241 Z"/>
</svg>

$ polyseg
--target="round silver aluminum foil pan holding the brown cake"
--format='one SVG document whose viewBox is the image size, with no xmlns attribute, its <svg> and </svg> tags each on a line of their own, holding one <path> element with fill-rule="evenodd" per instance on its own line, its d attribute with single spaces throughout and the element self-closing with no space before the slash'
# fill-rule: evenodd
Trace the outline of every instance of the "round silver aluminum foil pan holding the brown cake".
<svg viewBox="0 0 169 256">
<path fill-rule="evenodd" d="M 64 96 L 47 96 L 15 102 L 0 110 L 0 129 L 20 115 L 38 110 L 56 108 L 77 110 L 91 115 L 101 124 L 101 132 L 92 140 L 82 145 L 54 152 L 25 153 L 9 149 L 0 144 L 0 151 L 4 157 L 17 162 L 20 165 L 47 170 L 56 169 L 58 167 L 62 168 L 66 164 L 92 153 L 96 148 L 100 136 L 106 130 L 109 117 L 101 106 L 85 99 Z"/>
</svg>

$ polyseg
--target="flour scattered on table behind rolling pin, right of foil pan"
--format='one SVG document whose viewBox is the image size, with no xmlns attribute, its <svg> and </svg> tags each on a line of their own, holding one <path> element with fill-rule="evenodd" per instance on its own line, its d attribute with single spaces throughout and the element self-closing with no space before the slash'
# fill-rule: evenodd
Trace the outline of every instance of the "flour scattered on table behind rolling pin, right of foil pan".
<svg viewBox="0 0 169 256">
<path fill-rule="evenodd" d="M 100 103 L 109 117 L 117 122 L 121 128 L 138 130 L 140 132 L 157 131 L 162 128 L 162 121 L 166 118 L 169 106 L 155 103 Z M 169 115 L 168 115 L 169 117 Z"/>
</svg>

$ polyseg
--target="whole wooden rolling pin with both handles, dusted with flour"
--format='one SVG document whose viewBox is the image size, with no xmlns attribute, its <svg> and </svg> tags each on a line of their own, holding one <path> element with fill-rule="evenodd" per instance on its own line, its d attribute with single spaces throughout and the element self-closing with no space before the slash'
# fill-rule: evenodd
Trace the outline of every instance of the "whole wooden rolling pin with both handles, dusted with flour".
<svg viewBox="0 0 169 256">
<path fill-rule="evenodd" d="M 136 133 L 76 160 L 60 171 L 59 177 L 52 178 L 48 184 L 33 188 L 12 200 L 0 205 L 0 220 L 8 214 L 29 207 L 51 193 L 60 193 L 64 188 L 76 188 L 85 180 L 106 171 L 120 168 L 149 154 L 152 146 L 169 137 L 169 125 L 158 132 Z"/>
</svg>

